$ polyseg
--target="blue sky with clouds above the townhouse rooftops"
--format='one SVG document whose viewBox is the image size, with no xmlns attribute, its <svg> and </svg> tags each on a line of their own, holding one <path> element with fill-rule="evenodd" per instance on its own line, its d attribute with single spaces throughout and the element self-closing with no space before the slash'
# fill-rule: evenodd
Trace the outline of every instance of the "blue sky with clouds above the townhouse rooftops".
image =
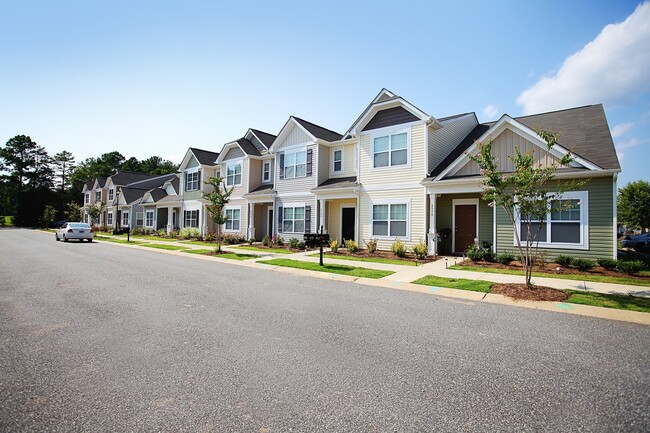
<svg viewBox="0 0 650 433">
<path fill-rule="evenodd" d="M 224 2 L 226 3 L 226 2 Z M 650 178 L 650 3 L 0 0 L 0 141 L 180 162 L 289 115 L 344 132 L 383 87 L 480 121 L 603 103 Z"/>
</svg>

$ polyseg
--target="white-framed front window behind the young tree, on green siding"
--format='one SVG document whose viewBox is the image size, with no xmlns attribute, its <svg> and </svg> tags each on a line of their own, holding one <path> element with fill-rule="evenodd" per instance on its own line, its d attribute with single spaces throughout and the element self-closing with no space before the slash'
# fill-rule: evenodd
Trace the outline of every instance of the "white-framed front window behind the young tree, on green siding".
<svg viewBox="0 0 650 433">
<path fill-rule="evenodd" d="M 588 238 L 588 193 L 565 192 L 550 201 L 544 215 L 521 215 L 519 235 L 522 241 L 530 238 L 543 247 L 586 248 Z"/>
</svg>

